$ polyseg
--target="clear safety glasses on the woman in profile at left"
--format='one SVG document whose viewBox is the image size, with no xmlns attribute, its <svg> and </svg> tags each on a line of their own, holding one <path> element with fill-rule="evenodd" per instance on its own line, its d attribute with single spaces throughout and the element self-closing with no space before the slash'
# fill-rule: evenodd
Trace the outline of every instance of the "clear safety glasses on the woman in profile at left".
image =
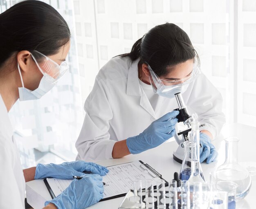
<svg viewBox="0 0 256 209">
<path fill-rule="evenodd" d="M 60 79 L 61 76 L 63 76 L 69 69 L 67 62 L 63 61 L 61 64 L 58 64 L 39 51 L 33 51 L 31 56 L 36 62 L 41 73 L 43 73 L 43 75 L 47 75 L 47 77 L 49 76 L 53 78 L 55 81 Z"/>
</svg>

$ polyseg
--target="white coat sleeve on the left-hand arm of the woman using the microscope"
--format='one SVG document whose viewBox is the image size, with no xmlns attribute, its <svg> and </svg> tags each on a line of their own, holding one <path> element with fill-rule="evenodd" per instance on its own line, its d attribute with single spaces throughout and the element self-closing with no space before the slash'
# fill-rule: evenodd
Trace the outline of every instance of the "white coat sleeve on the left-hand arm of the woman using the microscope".
<svg viewBox="0 0 256 209">
<path fill-rule="evenodd" d="M 76 160 L 96 161 L 112 158 L 115 140 L 110 139 L 109 122 L 113 113 L 107 84 L 96 78 L 92 92 L 85 101 L 86 112 L 76 149 Z"/>
</svg>

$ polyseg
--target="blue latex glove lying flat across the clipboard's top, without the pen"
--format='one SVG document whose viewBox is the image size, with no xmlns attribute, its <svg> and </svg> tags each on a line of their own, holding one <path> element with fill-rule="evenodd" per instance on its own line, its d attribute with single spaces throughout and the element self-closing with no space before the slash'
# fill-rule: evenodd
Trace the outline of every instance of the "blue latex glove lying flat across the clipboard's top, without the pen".
<svg viewBox="0 0 256 209">
<path fill-rule="evenodd" d="M 41 178 L 59 178 L 72 179 L 73 176 L 82 176 L 83 171 L 90 171 L 91 173 L 105 176 L 108 169 L 94 162 L 74 161 L 63 162 L 62 164 L 38 164 L 36 166 L 35 179 Z"/>
</svg>

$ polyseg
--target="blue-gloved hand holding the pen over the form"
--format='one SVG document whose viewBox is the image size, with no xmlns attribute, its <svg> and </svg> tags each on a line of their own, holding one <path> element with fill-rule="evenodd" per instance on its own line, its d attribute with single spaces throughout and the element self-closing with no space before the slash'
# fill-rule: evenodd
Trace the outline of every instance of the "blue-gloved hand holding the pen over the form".
<svg viewBox="0 0 256 209">
<path fill-rule="evenodd" d="M 53 203 L 58 209 L 84 209 L 103 198 L 102 177 L 98 174 L 83 174 L 80 180 L 74 179 L 56 198 L 45 202 Z"/>
</svg>

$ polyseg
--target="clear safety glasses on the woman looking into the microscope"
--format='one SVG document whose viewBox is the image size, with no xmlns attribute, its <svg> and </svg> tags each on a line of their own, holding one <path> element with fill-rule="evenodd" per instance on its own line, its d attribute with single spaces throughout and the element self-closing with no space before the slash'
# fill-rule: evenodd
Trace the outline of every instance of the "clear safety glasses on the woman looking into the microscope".
<svg viewBox="0 0 256 209">
<path fill-rule="evenodd" d="M 169 81 L 169 80 L 161 79 L 155 74 L 155 72 L 152 70 L 149 64 L 148 64 L 148 69 L 151 74 L 150 82 L 152 83 L 153 81 L 157 89 L 159 89 L 159 87 L 164 87 L 165 90 L 173 89 L 174 87 L 177 87 L 177 86 L 189 84 L 201 74 L 200 65 L 197 60 L 195 60 L 194 62 L 191 73 L 189 73 L 188 76 L 180 80 Z"/>
</svg>

